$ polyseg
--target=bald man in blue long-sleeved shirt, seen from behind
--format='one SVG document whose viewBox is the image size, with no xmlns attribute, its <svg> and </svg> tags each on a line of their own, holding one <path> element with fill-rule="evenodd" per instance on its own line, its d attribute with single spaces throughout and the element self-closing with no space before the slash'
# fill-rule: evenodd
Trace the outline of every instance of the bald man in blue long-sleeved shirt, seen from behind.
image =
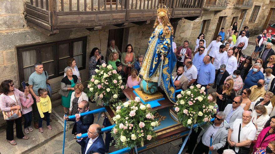
<svg viewBox="0 0 275 154">
<path fill-rule="evenodd" d="M 210 57 L 205 56 L 203 58 L 203 63 L 198 71 L 197 84 L 205 87 L 204 92 L 207 93 L 207 90 L 213 84 L 215 80 L 215 67 L 210 63 Z"/>
</svg>

